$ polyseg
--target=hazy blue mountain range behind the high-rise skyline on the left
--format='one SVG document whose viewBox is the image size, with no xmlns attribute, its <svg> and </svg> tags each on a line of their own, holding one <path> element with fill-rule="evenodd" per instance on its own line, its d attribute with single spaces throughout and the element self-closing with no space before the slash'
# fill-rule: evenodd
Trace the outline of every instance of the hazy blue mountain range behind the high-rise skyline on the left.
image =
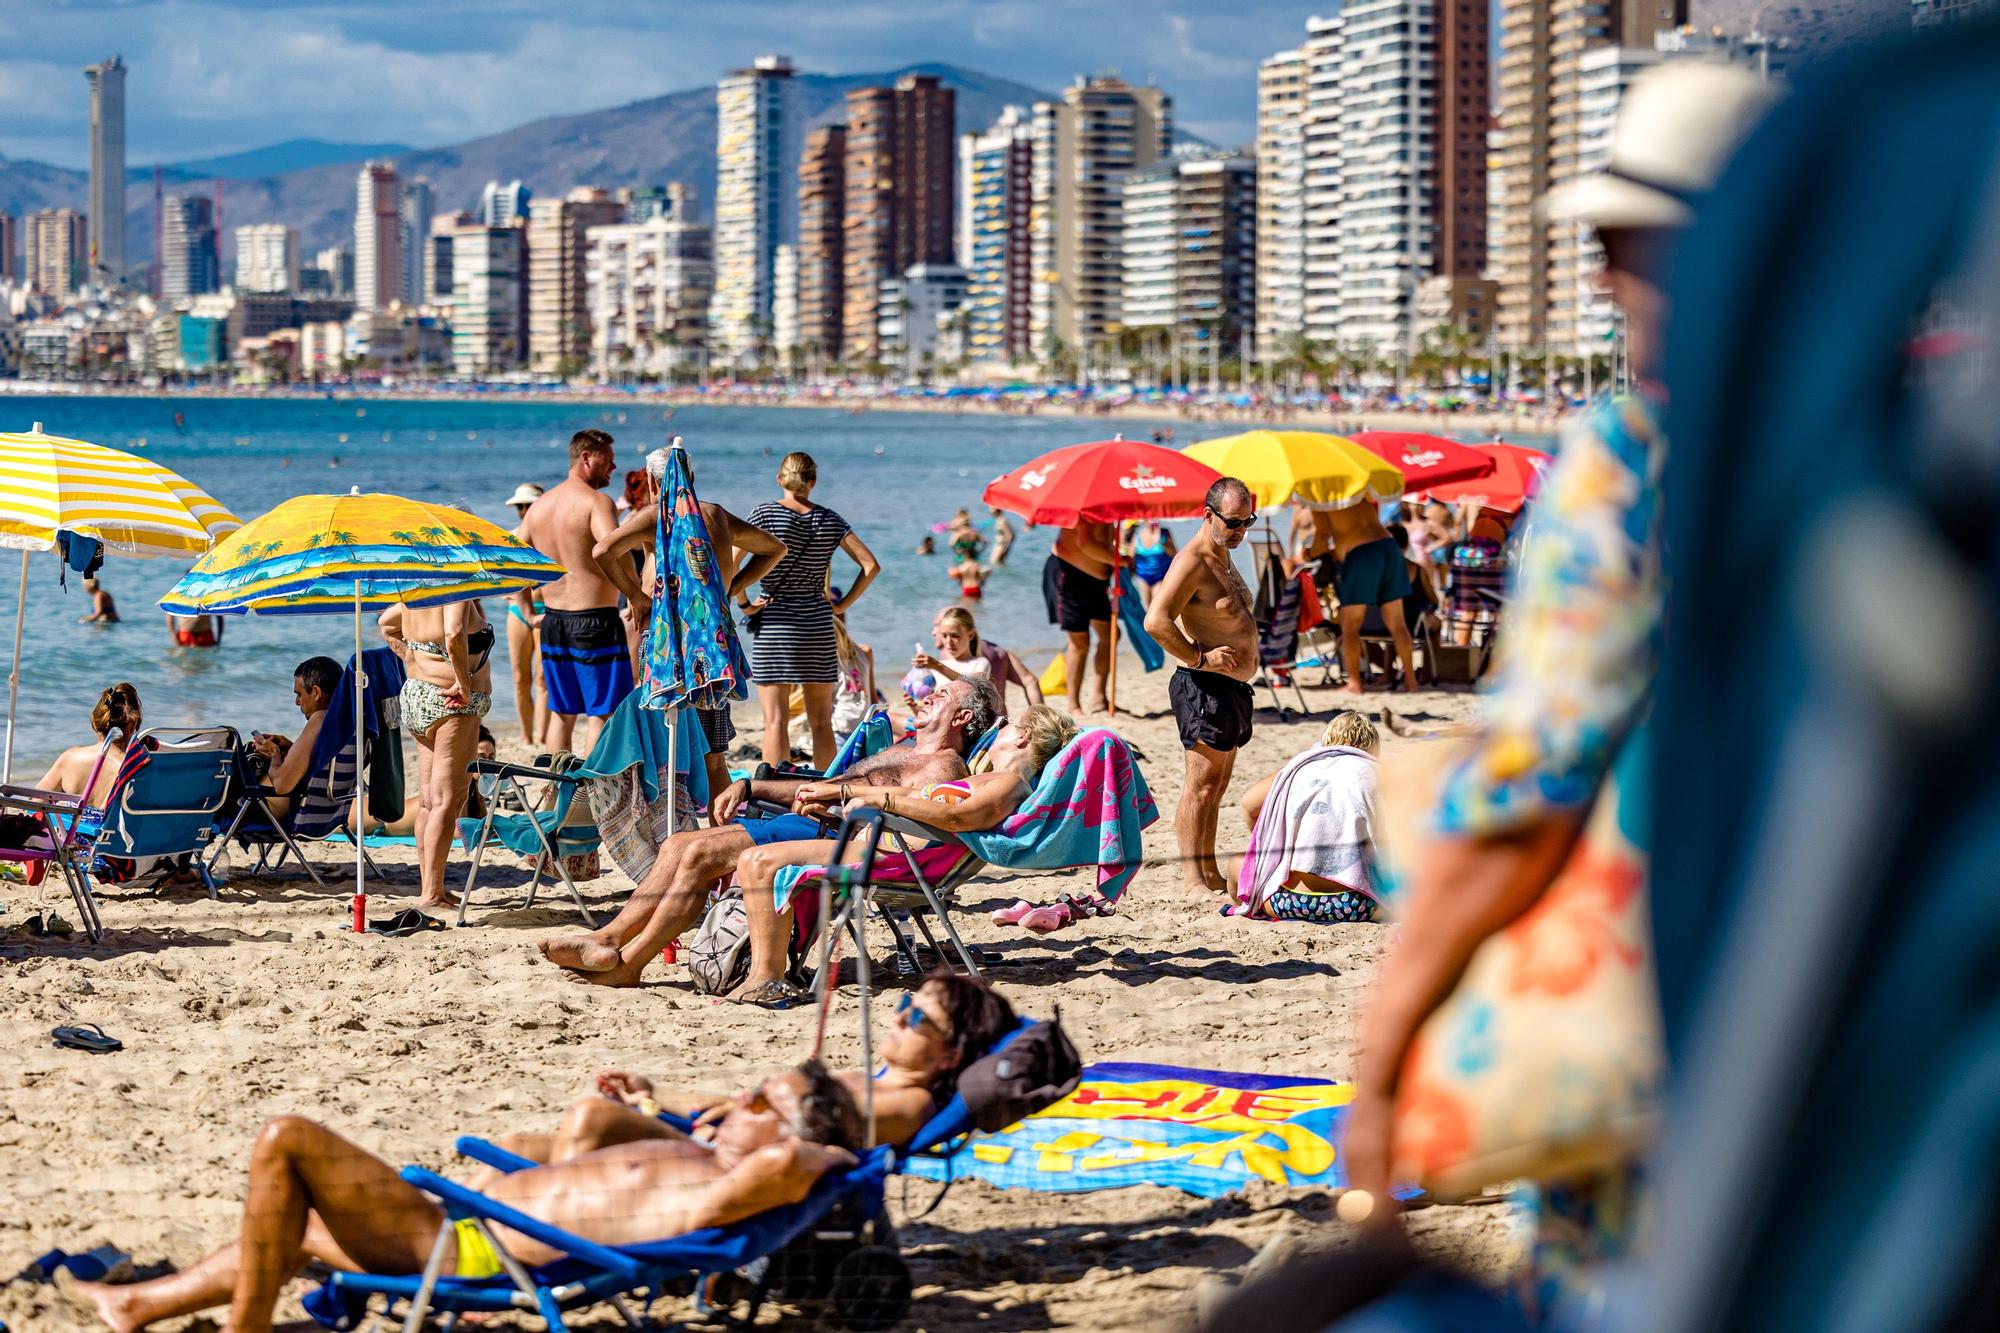
<svg viewBox="0 0 2000 1333">
<path fill-rule="evenodd" d="M 850 88 L 878 88 L 902 74 L 936 74 L 958 92 L 958 130 L 992 124 L 1008 104 L 1052 94 L 954 64 L 910 64 L 880 74 L 798 74 L 800 110 L 808 126 L 842 118 Z M 684 88 L 644 102 L 552 116 L 444 148 L 396 144 L 326 144 L 290 140 L 254 152 L 168 166 L 166 192 L 208 192 L 224 178 L 224 258 L 234 252 L 236 226 L 286 222 L 298 228 L 300 254 L 354 242 L 354 176 L 362 160 L 388 156 L 404 176 L 428 176 L 438 212 L 478 204 L 488 180 L 522 180 L 536 196 L 580 184 L 646 186 L 686 180 L 706 214 L 716 190 L 716 90 Z M 134 170 L 126 188 L 126 254 L 134 274 L 152 260 L 150 168 Z M 88 174 L 46 162 L 0 158 L 0 212 L 82 208 Z M 224 272 L 230 266 L 224 262 Z"/>
</svg>

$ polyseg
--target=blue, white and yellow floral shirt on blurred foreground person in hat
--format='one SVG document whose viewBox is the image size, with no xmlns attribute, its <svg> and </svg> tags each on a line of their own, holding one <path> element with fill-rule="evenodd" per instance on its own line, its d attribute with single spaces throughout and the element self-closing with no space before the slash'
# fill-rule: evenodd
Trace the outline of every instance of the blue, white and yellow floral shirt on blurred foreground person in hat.
<svg viewBox="0 0 2000 1333">
<path fill-rule="evenodd" d="M 1660 662 L 1664 460 L 1638 396 L 1564 430 L 1514 564 L 1486 731 L 1444 781 L 1440 833 L 1508 833 L 1596 797 Z"/>
</svg>

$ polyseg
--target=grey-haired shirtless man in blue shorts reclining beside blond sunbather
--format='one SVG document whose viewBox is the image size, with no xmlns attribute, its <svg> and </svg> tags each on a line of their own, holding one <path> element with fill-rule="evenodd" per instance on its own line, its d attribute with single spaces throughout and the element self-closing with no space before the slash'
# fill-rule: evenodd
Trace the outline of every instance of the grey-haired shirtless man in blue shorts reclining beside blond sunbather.
<svg viewBox="0 0 2000 1333">
<path fill-rule="evenodd" d="M 916 705 L 916 739 L 856 763 L 840 777 L 878 787 L 922 787 L 966 777 L 966 751 L 1000 715 L 1000 697 L 982 677 L 962 677 L 932 691 Z M 792 805 L 808 779 L 742 779 L 716 797 L 716 827 L 676 833 L 632 891 L 624 909 L 588 935 L 554 935 L 538 947 L 550 963 L 576 981 L 636 987 L 646 965 L 702 919 L 708 887 L 736 869 L 752 847 L 824 837 L 804 815 L 760 819 L 742 813 L 746 801 Z"/>
</svg>

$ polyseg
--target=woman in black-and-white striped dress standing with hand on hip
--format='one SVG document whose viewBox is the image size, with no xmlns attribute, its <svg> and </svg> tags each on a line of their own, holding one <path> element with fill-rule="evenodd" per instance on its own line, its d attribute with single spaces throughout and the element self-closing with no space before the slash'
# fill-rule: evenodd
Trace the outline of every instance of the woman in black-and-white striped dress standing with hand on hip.
<svg viewBox="0 0 2000 1333">
<path fill-rule="evenodd" d="M 786 705 L 798 685 L 806 695 L 806 723 L 812 727 L 812 763 L 824 773 L 834 761 L 834 685 L 840 681 L 834 610 L 846 612 L 882 572 L 882 564 L 846 518 L 812 502 L 818 478 L 812 454 L 786 454 L 778 464 L 784 496 L 750 510 L 750 526 L 784 542 L 786 556 L 764 576 L 762 596 L 744 610 L 758 616 L 750 675 L 764 709 L 764 763 L 782 765 L 792 757 Z M 826 590 L 826 566 L 834 550 L 846 550 L 860 564 L 860 574 L 838 600 Z"/>
</svg>

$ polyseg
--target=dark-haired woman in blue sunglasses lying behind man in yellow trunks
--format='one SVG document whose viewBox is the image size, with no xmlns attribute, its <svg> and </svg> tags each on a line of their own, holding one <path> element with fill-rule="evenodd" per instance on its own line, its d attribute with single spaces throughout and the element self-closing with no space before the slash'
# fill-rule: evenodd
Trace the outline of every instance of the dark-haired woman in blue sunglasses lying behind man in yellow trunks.
<svg viewBox="0 0 2000 1333">
<path fill-rule="evenodd" d="M 878 1047 L 882 1073 L 874 1079 L 876 1143 L 902 1147 L 938 1107 L 958 1091 L 958 1075 L 1014 1031 L 1014 1007 L 978 977 L 938 971 L 914 993 L 896 1001 L 896 1023 Z M 868 1083 L 860 1069 L 834 1075 L 856 1105 Z M 746 1093 L 676 1093 L 658 1089 L 644 1075 L 606 1069 L 598 1075 L 598 1097 L 578 1099 L 552 1135 L 518 1133 L 500 1147 L 532 1161 L 568 1161 L 614 1143 L 636 1139 L 678 1139 L 678 1129 L 658 1119 L 660 1111 L 690 1117 L 694 1137 L 708 1139 L 714 1125 Z"/>
</svg>

